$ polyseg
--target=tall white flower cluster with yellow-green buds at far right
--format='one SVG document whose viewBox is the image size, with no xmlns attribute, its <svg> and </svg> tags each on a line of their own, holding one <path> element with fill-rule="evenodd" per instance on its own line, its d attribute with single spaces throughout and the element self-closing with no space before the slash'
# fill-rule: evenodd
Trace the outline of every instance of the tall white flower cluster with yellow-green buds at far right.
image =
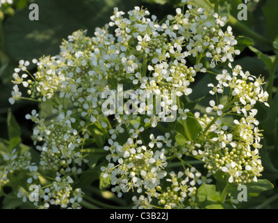
<svg viewBox="0 0 278 223">
<path fill-rule="evenodd" d="M 231 68 L 231 65 L 229 65 Z M 206 112 L 216 111 L 217 121 L 207 129 L 206 144 L 204 145 L 204 162 L 206 168 L 211 173 L 223 171 L 229 176 L 229 183 L 249 183 L 251 180 L 256 182 L 257 177 L 261 176 L 263 167 L 259 157 L 261 148 L 261 130 L 259 121 L 255 116 L 257 110 L 254 109 L 256 102 L 262 102 L 269 106 L 268 93 L 263 91 L 262 85 L 265 84 L 261 77 L 254 77 L 249 72 L 243 72 L 240 66 L 231 68 L 231 74 L 223 70 L 222 74 L 216 75 L 218 85 L 213 86 L 212 95 L 222 93 L 229 89 L 229 99 L 221 105 L 215 105 L 212 100 Z M 224 112 L 224 114 L 223 114 Z M 234 123 L 229 126 L 224 125 L 221 117 L 226 114 L 240 116 L 234 119 Z M 212 119 L 210 119 L 211 121 Z M 204 121 L 210 123 L 210 121 Z M 207 125 L 206 125 L 207 126 Z M 214 132 L 217 137 L 211 137 Z"/>
</svg>

